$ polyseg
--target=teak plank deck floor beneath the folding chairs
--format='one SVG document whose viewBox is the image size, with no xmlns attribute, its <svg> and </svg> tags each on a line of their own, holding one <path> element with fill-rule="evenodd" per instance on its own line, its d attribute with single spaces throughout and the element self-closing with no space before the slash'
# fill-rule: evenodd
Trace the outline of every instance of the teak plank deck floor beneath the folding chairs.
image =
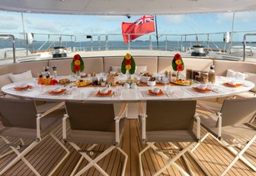
<svg viewBox="0 0 256 176">
<path fill-rule="evenodd" d="M 201 109 L 197 109 L 198 113 L 206 113 Z M 0 129 L 2 128 L 2 124 L 0 125 Z M 205 134 L 205 130 L 201 130 L 202 135 Z M 59 139 L 62 136 L 61 126 L 55 130 L 54 134 L 56 134 Z M 162 146 L 162 148 L 170 146 L 168 143 L 158 143 L 158 146 Z M 186 143 L 178 143 L 178 146 L 185 146 Z M 70 150 L 70 155 L 65 162 L 58 168 L 58 170 L 54 173 L 54 175 L 70 175 L 72 173 L 72 169 L 75 167 L 76 163 L 80 159 L 80 155 L 75 149 L 72 148 L 68 143 L 66 146 Z M 84 148 L 89 145 L 82 144 Z M 123 140 L 120 143 L 120 147 L 124 150 L 124 152 L 128 155 L 128 162 L 126 165 L 126 174 L 125 175 L 139 175 L 139 161 L 138 154 L 139 151 L 145 146 L 141 142 L 140 130 L 139 130 L 139 122 L 135 119 L 126 121 L 126 128 L 123 134 Z M 96 147 L 96 150 L 106 149 L 107 146 L 101 145 Z M 0 140 L 0 152 L 4 152 L 8 150 L 8 146 Z M 256 143 L 254 142 L 253 146 L 250 147 L 250 152 L 255 153 Z M 30 153 L 27 154 L 26 159 L 34 165 L 34 167 L 39 171 L 41 175 L 47 175 L 50 173 L 51 169 L 56 165 L 57 162 L 65 155 L 65 151 L 50 137 L 47 137 L 42 143 L 40 143 L 35 149 L 33 149 Z M 99 155 L 99 152 L 95 152 L 94 156 Z M 11 155 L 5 156 L 0 159 L 0 169 L 2 169 L 11 159 L 14 158 L 14 153 Z M 93 157 L 94 157 L 93 156 Z M 194 152 L 194 156 L 204 165 L 204 167 L 210 171 L 212 175 L 219 175 L 226 168 L 226 165 L 232 161 L 234 156 L 224 149 L 216 140 L 212 137 L 207 137 L 203 144 L 197 148 Z M 254 156 L 246 153 L 245 158 L 249 159 L 252 163 L 256 164 L 256 159 Z M 194 162 L 190 156 L 187 155 L 187 159 L 190 163 L 192 170 L 194 171 L 194 175 L 205 175 L 200 167 Z M 162 165 L 164 165 L 166 161 L 162 159 L 162 157 L 158 156 L 152 149 L 149 149 L 145 155 L 142 156 L 142 166 L 143 172 L 146 176 L 152 175 L 158 170 Z M 182 159 L 178 160 L 178 165 L 181 165 L 183 168 L 187 170 L 184 166 L 184 161 Z M 81 168 L 85 167 L 85 160 L 83 160 Z M 110 152 L 104 159 L 102 159 L 99 163 L 105 171 L 107 171 L 110 175 L 120 175 L 121 167 L 123 164 L 123 157 L 120 156 L 120 152 L 117 152 L 115 149 L 113 152 Z M 188 170 L 187 170 L 188 171 Z M 250 168 L 245 166 L 242 162 L 238 161 L 232 167 L 232 169 L 228 172 L 227 175 L 255 175 L 254 171 L 251 171 Z M 27 165 L 24 165 L 23 162 L 18 162 L 14 167 L 9 169 L 5 175 L 34 175 L 30 168 Z M 101 175 L 95 168 L 91 168 L 83 175 Z M 174 167 L 169 167 L 162 175 L 181 175 L 181 173 Z"/>
</svg>

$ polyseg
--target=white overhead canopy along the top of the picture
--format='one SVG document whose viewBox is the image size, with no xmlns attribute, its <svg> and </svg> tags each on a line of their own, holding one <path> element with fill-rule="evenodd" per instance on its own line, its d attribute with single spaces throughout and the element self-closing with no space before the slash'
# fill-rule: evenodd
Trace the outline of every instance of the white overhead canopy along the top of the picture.
<svg viewBox="0 0 256 176">
<path fill-rule="evenodd" d="M 47 14 L 194 14 L 256 10 L 255 0 L 1 0 L 0 10 Z"/>
</svg>

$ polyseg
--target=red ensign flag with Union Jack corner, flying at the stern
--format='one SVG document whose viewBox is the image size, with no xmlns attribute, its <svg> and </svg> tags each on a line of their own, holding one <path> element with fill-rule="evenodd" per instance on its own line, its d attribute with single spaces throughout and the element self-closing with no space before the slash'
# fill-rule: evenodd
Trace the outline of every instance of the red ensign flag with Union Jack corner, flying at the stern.
<svg viewBox="0 0 256 176">
<path fill-rule="evenodd" d="M 128 43 L 128 34 L 130 35 L 130 42 L 139 36 L 146 33 L 152 33 L 155 31 L 154 17 L 153 16 L 143 16 L 136 20 L 134 23 L 122 23 L 122 34 L 123 42 Z"/>
</svg>

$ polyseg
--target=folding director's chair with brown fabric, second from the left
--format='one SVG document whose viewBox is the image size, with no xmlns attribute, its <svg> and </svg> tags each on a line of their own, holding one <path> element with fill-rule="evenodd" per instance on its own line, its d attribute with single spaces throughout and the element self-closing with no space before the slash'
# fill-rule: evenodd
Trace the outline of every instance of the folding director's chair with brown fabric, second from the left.
<svg viewBox="0 0 256 176">
<path fill-rule="evenodd" d="M 66 102 L 67 114 L 63 118 L 62 137 L 82 155 L 73 169 L 72 175 L 81 175 L 91 167 L 96 168 L 103 175 L 109 175 L 98 165 L 98 162 L 114 149 L 123 155 L 121 175 L 125 174 L 128 156 L 123 149 L 120 149 L 119 144 L 126 121 L 126 118 L 123 117 L 126 107 L 127 104 L 123 103 L 118 115 L 115 116 L 114 104 Z M 66 130 L 67 120 L 70 124 L 69 131 Z M 89 143 L 91 146 L 82 149 L 78 143 Z M 97 145 L 108 145 L 109 147 L 104 151 L 98 151 L 94 149 Z M 95 152 L 101 154 L 91 159 L 90 156 L 93 156 Z M 76 173 L 83 159 L 86 159 L 88 163 Z"/>
</svg>

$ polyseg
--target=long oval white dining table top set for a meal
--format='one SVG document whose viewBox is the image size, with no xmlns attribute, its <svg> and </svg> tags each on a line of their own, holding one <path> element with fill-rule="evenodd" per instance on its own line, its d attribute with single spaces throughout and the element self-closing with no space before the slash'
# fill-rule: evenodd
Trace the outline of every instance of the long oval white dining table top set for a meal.
<svg viewBox="0 0 256 176">
<path fill-rule="evenodd" d="M 137 86 L 136 89 L 124 89 L 123 86 L 110 87 L 112 94 L 110 96 L 98 96 L 99 90 L 104 87 L 99 86 L 62 86 L 59 84 L 51 86 L 38 85 L 35 80 L 24 80 L 21 82 L 10 83 L 2 87 L 2 91 L 11 96 L 17 96 L 22 99 L 35 99 L 46 101 L 85 101 L 85 102 L 137 102 L 139 100 L 185 100 L 185 99 L 211 99 L 225 96 L 233 96 L 238 93 L 244 93 L 254 87 L 254 83 L 247 80 L 235 80 L 242 83 L 242 86 L 229 87 L 224 83 L 235 80 L 230 77 L 216 77 L 216 83 L 210 84 L 211 91 L 206 93 L 197 92 L 193 87 L 197 87 L 199 83 L 194 82 L 189 86 L 179 86 L 167 84 L 166 86 L 158 86 L 164 93 L 161 96 L 152 96 L 148 90 L 152 90 L 155 86 Z M 21 84 L 30 85 L 27 90 L 15 90 L 14 87 Z M 51 95 L 49 91 L 57 87 L 65 89 L 62 94 Z"/>
</svg>

